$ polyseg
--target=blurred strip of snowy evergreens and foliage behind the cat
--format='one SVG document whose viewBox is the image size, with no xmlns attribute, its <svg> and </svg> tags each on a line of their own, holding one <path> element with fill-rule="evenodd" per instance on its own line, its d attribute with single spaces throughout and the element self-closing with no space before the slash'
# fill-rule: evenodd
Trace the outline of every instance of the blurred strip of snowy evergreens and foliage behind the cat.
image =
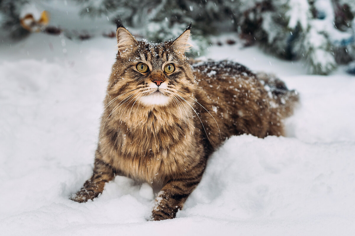
<svg viewBox="0 0 355 236">
<path fill-rule="evenodd" d="M 192 57 L 210 45 L 239 41 L 304 61 L 310 74 L 327 75 L 338 65 L 355 74 L 354 16 L 354 0 L 0 0 L 0 40 L 9 44 L 31 33 L 115 38 L 118 18 L 137 38 L 159 42 L 192 22 Z M 213 40 L 231 32 L 236 34 Z"/>
</svg>

